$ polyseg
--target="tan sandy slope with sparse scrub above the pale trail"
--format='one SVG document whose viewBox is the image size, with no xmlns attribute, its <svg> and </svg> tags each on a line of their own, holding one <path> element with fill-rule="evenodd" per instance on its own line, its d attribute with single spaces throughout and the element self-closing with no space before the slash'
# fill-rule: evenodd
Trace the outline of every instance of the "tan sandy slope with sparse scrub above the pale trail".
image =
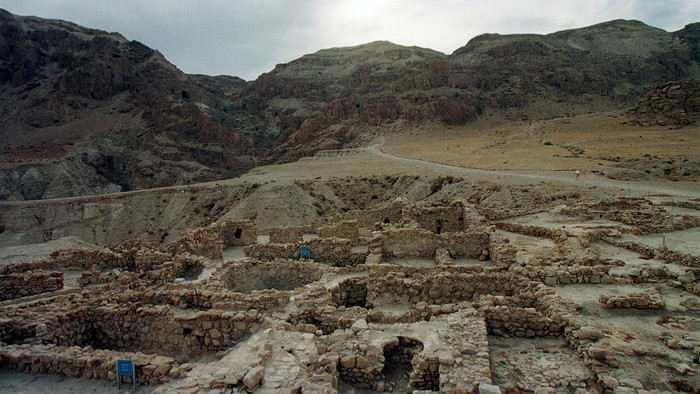
<svg viewBox="0 0 700 394">
<path fill-rule="evenodd" d="M 700 128 L 639 127 L 618 113 L 538 122 L 416 129 L 392 134 L 385 149 L 398 156 L 462 167 L 502 170 L 611 171 L 611 159 L 700 159 Z"/>
</svg>

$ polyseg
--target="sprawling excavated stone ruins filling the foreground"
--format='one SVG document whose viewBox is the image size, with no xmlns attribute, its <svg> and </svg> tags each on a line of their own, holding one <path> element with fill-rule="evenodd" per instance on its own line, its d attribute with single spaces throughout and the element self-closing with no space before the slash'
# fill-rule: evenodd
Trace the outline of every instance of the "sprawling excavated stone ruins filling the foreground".
<svg viewBox="0 0 700 394">
<path fill-rule="evenodd" d="M 552 225 L 395 199 L 58 251 L 0 267 L 0 366 L 113 382 L 129 359 L 162 393 L 697 387 L 700 258 L 633 240 L 700 225 L 671 205 L 573 202 Z"/>
</svg>

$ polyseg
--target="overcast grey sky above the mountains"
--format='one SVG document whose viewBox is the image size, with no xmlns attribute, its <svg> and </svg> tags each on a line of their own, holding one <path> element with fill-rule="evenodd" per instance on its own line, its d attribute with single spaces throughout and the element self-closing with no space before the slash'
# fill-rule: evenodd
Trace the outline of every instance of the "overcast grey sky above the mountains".
<svg viewBox="0 0 700 394">
<path fill-rule="evenodd" d="M 187 73 L 246 80 L 306 53 L 376 40 L 449 54 L 482 33 L 700 22 L 698 0 L 0 0 L 0 8 L 119 32 Z"/>
</svg>

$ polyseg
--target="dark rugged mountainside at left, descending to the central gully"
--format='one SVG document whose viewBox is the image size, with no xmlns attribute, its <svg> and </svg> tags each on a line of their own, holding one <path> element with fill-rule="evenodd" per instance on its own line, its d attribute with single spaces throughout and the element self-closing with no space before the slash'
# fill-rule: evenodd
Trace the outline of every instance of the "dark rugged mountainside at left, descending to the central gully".
<svg viewBox="0 0 700 394">
<path fill-rule="evenodd" d="M 231 177 L 253 143 L 221 111 L 245 82 L 188 76 L 121 35 L 0 12 L 0 199 Z"/>
</svg>

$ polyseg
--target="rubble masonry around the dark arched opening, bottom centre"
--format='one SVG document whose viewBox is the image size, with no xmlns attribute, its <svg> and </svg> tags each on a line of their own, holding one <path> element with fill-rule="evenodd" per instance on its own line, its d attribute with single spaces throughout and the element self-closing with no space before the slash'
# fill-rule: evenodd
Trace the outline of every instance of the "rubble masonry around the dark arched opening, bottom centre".
<svg viewBox="0 0 700 394">
<path fill-rule="evenodd" d="M 396 391 L 385 376 L 388 366 L 396 365 L 408 366 L 410 389 L 417 392 L 471 392 L 479 383 L 491 383 L 486 324 L 475 309 L 419 323 L 419 330 L 408 325 L 395 334 L 370 340 L 362 333 L 372 328 L 371 323 L 368 326 L 361 317 L 351 323 L 349 330 L 324 337 L 317 361 L 317 367 L 337 371 L 346 384 Z"/>
</svg>

